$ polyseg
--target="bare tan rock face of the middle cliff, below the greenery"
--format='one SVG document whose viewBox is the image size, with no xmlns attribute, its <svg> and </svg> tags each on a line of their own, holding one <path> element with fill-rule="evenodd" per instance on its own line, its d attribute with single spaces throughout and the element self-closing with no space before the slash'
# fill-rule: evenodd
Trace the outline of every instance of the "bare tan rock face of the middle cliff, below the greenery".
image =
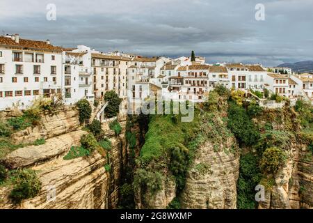
<svg viewBox="0 0 313 223">
<path fill-rule="evenodd" d="M 229 138 L 220 151 L 207 142 L 198 148 L 193 167 L 188 171 L 182 193 L 182 208 L 236 208 L 236 182 L 239 155 L 230 151 Z"/>
</svg>

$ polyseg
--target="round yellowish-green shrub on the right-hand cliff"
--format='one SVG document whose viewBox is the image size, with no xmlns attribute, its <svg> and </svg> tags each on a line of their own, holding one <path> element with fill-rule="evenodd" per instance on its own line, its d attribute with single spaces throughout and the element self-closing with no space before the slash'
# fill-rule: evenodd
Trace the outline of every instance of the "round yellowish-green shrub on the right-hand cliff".
<svg viewBox="0 0 313 223">
<path fill-rule="evenodd" d="M 266 174 L 275 174 L 284 165 L 286 160 L 287 154 L 281 148 L 266 148 L 260 162 L 260 167 Z"/>
</svg>

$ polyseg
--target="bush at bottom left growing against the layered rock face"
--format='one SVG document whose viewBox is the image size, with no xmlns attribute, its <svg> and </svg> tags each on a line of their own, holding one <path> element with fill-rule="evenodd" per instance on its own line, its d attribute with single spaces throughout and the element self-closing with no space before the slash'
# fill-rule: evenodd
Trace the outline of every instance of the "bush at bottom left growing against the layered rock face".
<svg viewBox="0 0 313 223">
<path fill-rule="evenodd" d="M 15 178 L 15 187 L 10 193 L 10 199 L 15 204 L 21 203 L 23 199 L 35 197 L 40 192 L 42 183 L 35 171 L 23 169 L 18 172 Z"/>
</svg>

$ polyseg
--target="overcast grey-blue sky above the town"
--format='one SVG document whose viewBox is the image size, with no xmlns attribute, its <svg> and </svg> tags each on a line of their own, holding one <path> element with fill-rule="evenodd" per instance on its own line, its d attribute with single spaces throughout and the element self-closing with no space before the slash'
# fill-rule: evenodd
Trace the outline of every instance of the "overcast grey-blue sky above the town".
<svg viewBox="0 0 313 223">
<path fill-rule="evenodd" d="M 56 6 L 56 20 L 46 18 Z M 265 20 L 255 20 L 255 5 Z M 0 0 L 0 32 L 144 56 L 263 63 L 313 60 L 313 0 Z"/>
</svg>

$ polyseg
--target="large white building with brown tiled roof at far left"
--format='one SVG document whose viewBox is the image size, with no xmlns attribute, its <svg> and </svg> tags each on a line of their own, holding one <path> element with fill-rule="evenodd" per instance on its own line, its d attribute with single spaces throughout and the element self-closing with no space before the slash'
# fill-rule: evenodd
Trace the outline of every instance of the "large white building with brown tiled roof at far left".
<svg viewBox="0 0 313 223">
<path fill-rule="evenodd" d="M 49 40 L 0 36 L 0 110 L 25 109 L 38 95 L 61 93 L 62 48 Z"/>
</svg>

